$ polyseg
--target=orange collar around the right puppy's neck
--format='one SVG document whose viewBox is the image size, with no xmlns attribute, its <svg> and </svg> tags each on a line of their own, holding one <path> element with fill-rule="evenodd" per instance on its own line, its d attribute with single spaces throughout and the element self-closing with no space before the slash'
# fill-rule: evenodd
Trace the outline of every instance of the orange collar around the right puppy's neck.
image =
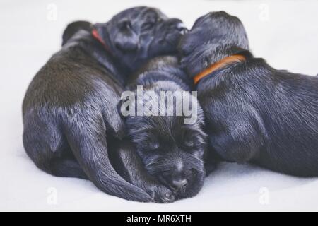
<svg viewBox="0 0 318 226">
<path fill-rule="evenodd" d="M 225 57 L 225 58 L 221 59 L 220 61 L 216 62 L 215 64 L 211 64 L 211 66 L 208 66 L 206 69 L 204 69 L 204 71 L 201 71 L 196 76 L 194 76 L 194 78 L 193 78 L 194 84 L 199 83 L 201 78 L 208 76 L 213 71 L 216 71 L 216 70 L 218 70 L 218 69 L 220 69 L 223 66 L 226 66 L 228 64 L 239 62 L 239 61 L 245 61 L 245 57 L 243 55 L 240 55 L 240 54 L 235 54 L 235 55 L 232 55 L 229 57 Z"/>
</svg>

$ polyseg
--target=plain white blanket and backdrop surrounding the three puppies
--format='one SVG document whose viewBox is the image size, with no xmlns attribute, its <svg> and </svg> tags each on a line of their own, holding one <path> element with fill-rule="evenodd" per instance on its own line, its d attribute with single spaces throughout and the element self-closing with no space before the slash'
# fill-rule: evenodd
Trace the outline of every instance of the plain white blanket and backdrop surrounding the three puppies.
<svg viewBox="0 0 318 226">
<path fill-rule="evenodd" d="M 91 182 L 52 177 L 33 165 L 22 145 L 23 96 L 35 73 L 59 50 L 66 24 L 79 19 L 106 22 L 114 13 L 139 5 L 161 8 L 188 28 L 208 11 L 227 11 L 244 23 L 257 57 L 277 69 L 318 73 L 318 1 L 1 0 L 0 210 L 318 210 L 317 178 L 250 165 L 224 163 L 198 196 L 171 204 L 124 201 L 103 194 Z M 49 12 L 55 6 L 57 18 L 52 20 Z M 48 202 L 51 187 L 57 191 L 55 205 Z"/>
</svg>

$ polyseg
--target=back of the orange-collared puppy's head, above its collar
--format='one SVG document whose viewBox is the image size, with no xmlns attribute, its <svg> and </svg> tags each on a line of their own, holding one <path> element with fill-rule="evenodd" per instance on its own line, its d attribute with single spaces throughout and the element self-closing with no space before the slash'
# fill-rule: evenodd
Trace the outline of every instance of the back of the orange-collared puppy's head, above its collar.
<svg viewBox="0 0 318 226">
<path fill-rule="evenodd" d="M 249 42 L 242 22 L 224 11 L 198 18 L 178 46 L 182 67 L 190 76 L 224 57 L 248 49 Z"/>
</svg>

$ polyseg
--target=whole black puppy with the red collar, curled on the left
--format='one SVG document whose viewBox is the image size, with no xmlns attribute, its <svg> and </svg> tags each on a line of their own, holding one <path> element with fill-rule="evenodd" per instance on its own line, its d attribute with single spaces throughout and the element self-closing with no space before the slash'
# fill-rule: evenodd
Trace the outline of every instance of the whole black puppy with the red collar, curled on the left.
<svg viewBox="0 0 318 226">
<path fill-rule="evenodd" d="M 88 178 L 107 194 L 152 201 L 132 185 L 144 179 L 144 190 L 172 201 L 165 186 L 134 173 L 127 179 L 132 184 L 119 177 L 108 151 L 118 148 L 125 165 L 139 168 L 121 141 L 124 122 L 117 102 L 126 74 L 148 58 L 175 52 L 182 29 L 180 20 L 148 7 L 129 8 L 91 27 L 69 25 L 62 49 L 36 74 L 23 101 L 23 144 L 35 165 L 59 177 Z"/>
</svg>

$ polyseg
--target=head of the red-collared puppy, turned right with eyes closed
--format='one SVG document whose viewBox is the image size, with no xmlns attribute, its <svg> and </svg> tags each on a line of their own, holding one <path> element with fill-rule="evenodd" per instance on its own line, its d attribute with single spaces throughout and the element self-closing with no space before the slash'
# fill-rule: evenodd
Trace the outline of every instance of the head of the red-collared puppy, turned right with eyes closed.
<svg viewBox="0 0 318 226">
<path fill-rule="evenodd" d="M 167 18 L 156 8 L 129 8 L 108 23 L 95 25 L 114 57 L 135 70 L 147 59 L 176 54 L 179 38 L 186 30 L 182 21 Z"/>
</svg>

